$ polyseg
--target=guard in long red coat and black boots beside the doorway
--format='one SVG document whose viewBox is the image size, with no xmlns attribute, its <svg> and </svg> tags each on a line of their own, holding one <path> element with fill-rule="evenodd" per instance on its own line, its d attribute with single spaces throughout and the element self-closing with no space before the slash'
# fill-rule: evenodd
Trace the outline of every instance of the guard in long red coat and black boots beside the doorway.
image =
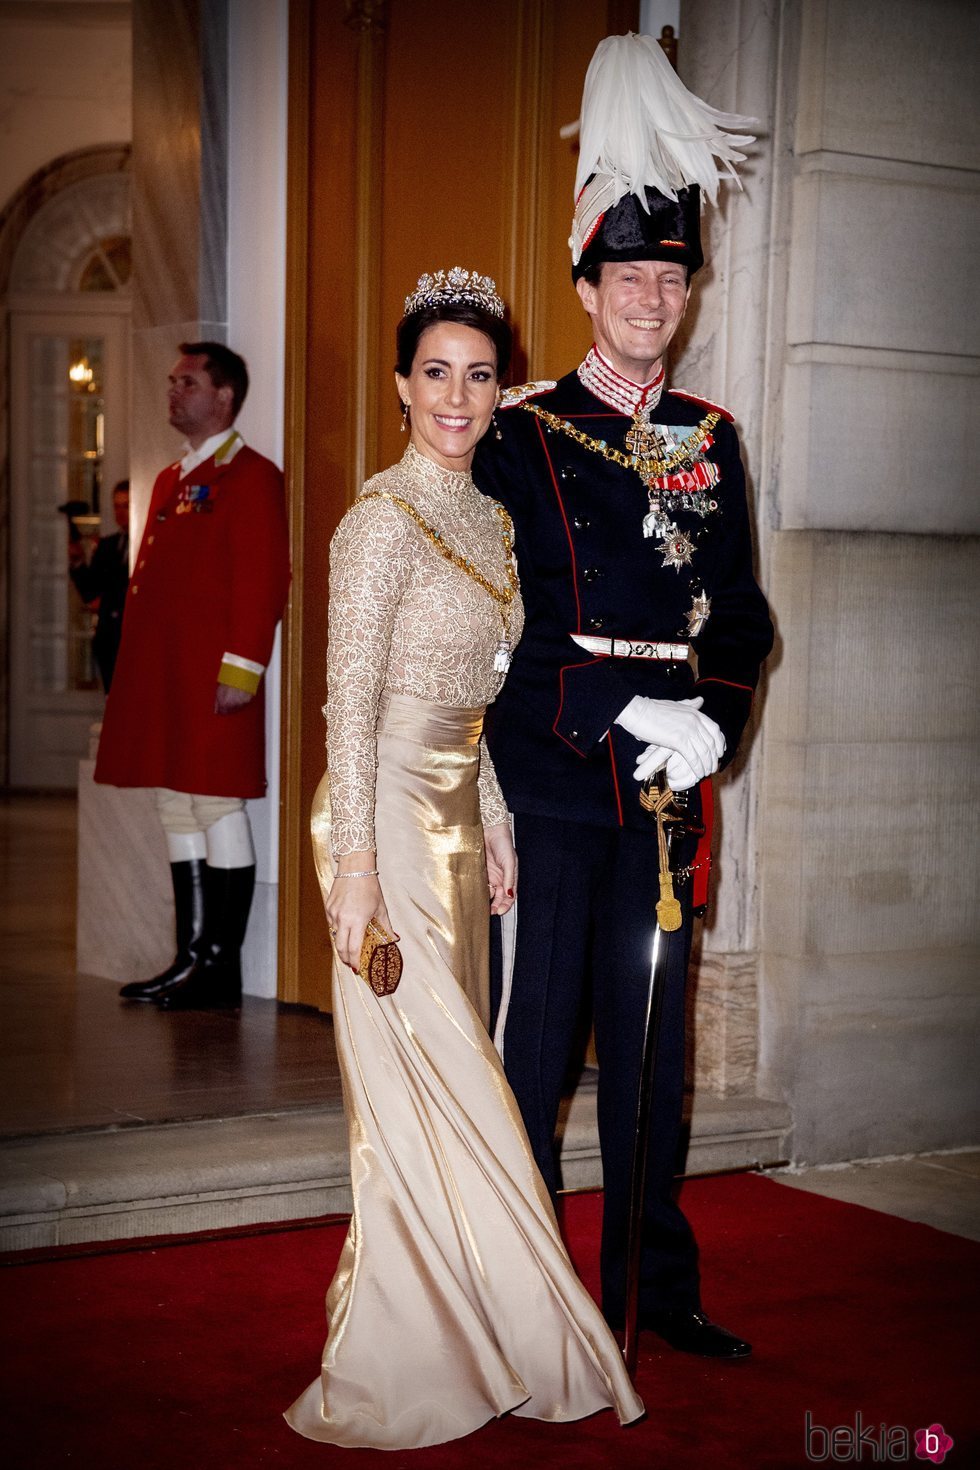
<svg viewBox="0 0 980 1470">
<path fill-rule="evenodd" d="M 238 353 L 182 343 L 169 420 L 182 457 L 153 487 L 106 701 L 96 781 L 153 786 L 176 954 L 125 1000 L 237 1005 L 256 881 L 245 800 L 266 789 L 263 673 L 289 585 L 282 472 L 234 428 Z"/>
</svg>

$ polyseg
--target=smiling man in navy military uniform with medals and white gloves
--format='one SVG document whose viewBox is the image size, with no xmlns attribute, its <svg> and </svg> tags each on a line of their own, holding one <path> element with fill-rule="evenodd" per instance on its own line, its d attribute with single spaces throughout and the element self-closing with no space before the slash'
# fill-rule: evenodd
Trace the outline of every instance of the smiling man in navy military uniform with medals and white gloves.
<svg viewBox="0 0 980 1470">
<path fill-rule="evenodd" d="M 483 440 L 475 476 L 513 516 L 526 606 L 486 728 L 520 863 L 495 1039 L 554 1191 L 558 1104 L 591 988 L 602 1307 L 621 1327 L 658 898 L 657 832 L 638 781 L 666 764 L 671 788 L 688 791 L 692 823 L 707 813 L 708 778 L 735 756 L 773 634 L 752 573 L 732 416 L 666 387 L 667 347 L 702 263 L 698 187 L 676 198 L 646 188 L 644 201 L 629 193 L 598 223 L 583 218 L 588 207 L 586 188 L 573 279 L 594 347 L 557 384 L 504 394 L 500 437 Z M 683 923 L 661 939 L 639 1323 L 682 1351 L 736 1358 L 749 1344 L 704 1316 L 695 1239 L 671 1198 L 692 911 L 707 864 L 707 845 L 692 838 L 673 856 Z"/>
</svg>

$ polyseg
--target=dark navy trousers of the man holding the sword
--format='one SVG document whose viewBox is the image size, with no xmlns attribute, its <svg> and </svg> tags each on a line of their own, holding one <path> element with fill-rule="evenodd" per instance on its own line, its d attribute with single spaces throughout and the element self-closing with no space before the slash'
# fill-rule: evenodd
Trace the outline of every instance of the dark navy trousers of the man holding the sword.
<svg viewBox="0 0 980 1470">
<path fill-rule="evenodd" d="M 519 857 L 517 936 L 502 1036 L 504 1069 L 538 1166 L 555 1192 L 555 1125 L 582 1016 L 592 1001 L 599 1061 L 602 1152 L 602 1310 L 624 1314 L 626 1235 L 642 1025 L 655 925 L 657 836 L 555 817 L 514 819 Z M 671 866 L 689 861 L 679 845 Z M 655 1063 L 642 1227 L 641 1317 L 699 1307 L 698 1247 L 673 1200 L 685 1082 L 685 985 L 691 956 L 689 885 L 683 926 L 664 935 L 666 989 Z M 500 922 L 494 922 L 492 1005 L 501 1004 Z"/>
</svg>

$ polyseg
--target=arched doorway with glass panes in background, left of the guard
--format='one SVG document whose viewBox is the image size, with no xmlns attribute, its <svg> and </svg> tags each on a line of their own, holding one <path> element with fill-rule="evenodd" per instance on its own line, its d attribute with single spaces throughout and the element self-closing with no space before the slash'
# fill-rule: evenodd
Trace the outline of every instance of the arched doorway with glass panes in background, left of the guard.
<svg viewBox="0 0 980 1470">
<path fill-rule="evenodd" d="M 101 713 L 94 614 L 68 578 L 72 504 L 97 539 L 129 466 L 129 175 L 75 178 L 35 210 L 9 294 L 9 784 L 75 785 Z M 81 507 L 85 507 L 81 510 Z"/>
</svg>

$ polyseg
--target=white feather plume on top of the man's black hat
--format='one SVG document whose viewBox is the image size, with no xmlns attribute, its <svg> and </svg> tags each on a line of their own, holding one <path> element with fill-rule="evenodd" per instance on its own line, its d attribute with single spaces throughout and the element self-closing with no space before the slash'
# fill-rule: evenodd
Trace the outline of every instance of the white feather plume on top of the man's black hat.
<svg viewBox="0 0 980 1470">
<path fill-rule="evenodd" d="M 576 198 L 589 175 L 604 173 L 613 179 L 614 204 L 632 193 L 646 209 L 646 185 L 676 198 L 689 184 L 714 203 L 721 171 L 738 182 L 741 150 L 755 143 L 743 129 L 754 122 L 689 93 L 654 37 L 607 35 L 585 76 Z"/>
</svg>

